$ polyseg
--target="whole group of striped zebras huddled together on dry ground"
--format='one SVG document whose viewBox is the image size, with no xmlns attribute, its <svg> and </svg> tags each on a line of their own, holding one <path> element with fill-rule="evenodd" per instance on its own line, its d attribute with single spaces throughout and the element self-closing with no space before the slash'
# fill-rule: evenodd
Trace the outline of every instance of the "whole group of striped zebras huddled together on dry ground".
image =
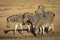
<svg viewBox="0 0 60 40">
<path fill-rule="evenodd" d="M 23 29 L 23 25 L 27 27 L 28 31 L 34 36 L 39 34 L 44 35 L 45 32 L 54 33 L 54 17 L 55 13 L 52 11 L 45 12 L 43 6 L 38 6 L 35 13 L 25 12 L 20 15 L 12 15 L 7 17 L 7 27 L 10 27 L 10 22 L 15 23 L 15 33 L 18 26 Z"/>
</svg>

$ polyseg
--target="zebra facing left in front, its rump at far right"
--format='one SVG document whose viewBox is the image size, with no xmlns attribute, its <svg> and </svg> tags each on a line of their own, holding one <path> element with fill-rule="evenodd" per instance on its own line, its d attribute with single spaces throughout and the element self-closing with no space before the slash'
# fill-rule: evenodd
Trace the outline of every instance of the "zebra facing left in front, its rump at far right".
<svg viewBox="0 0 60 40">
<path fill-rule="evenodd" d="M 31 21 L 36 34 L 39 33 L 44 34 L 46 27 L 47 28 L 49 27 L 49 30 L 52 29 L 52 31 L 54 31 L 53 21 L 54 21 L 55 13 L 53 13 L 52 11 L 45 12 L 45 17 L 40 16 L 39 14 L 32 14 L 32 13 L 25 13 L 24 17 L 26 18 L 25 22 L 27 20 Z"/>
</svg>

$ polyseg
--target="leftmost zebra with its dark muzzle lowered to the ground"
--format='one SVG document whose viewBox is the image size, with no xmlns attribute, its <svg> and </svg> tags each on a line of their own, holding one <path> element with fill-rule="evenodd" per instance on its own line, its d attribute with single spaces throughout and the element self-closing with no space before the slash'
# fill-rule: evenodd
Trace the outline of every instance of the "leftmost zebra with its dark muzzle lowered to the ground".
<svg viewBox="0 0 60 40">
<path fill-rule="evenodd" d="M 32 16 L 31 16 L 31 18 L 32 18 Z M 20 29 L 22 30 L 23 29 L 22 26 L 26 25 L 28 32 L 31 32 L 34 36 L 36 36 L 35 31 L 33 29 L 33 24 L 31 23 L 30 20 L 27 20 L 27 17 L 25 17 L 25 13 L 20 14 L 20 15 L 12 15 L 12 16 L 7 17 L 7 27 L 8 28 L 10 27 L 11 22 L 15 23 L 15 33 L 16 33 L 18 26 L 20 26 Z"/>
</svg>

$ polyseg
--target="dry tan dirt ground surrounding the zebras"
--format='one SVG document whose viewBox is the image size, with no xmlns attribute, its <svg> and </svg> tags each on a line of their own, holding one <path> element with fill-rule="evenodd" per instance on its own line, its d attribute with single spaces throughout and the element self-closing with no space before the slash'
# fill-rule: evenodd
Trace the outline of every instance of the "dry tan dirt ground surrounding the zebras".
<svg viewBox="0 0 60 40">
<path fill-rule="evenodd" d="M 31 33 L 23 32 L 23 35 L 13 32 L 4 33 L 6 29 L 14 29 L 14 26 L 7 28 L 6 18 L 10 15 L 23 14 L 37 9 L 38 5 L 44 5 L 46 11 L 51 10 L 55 13 L 54 35 L 40 35 L 34 37 Z M 0 0 L 0 40 L 60 40 L 60 0 Z"/>
</svg>

